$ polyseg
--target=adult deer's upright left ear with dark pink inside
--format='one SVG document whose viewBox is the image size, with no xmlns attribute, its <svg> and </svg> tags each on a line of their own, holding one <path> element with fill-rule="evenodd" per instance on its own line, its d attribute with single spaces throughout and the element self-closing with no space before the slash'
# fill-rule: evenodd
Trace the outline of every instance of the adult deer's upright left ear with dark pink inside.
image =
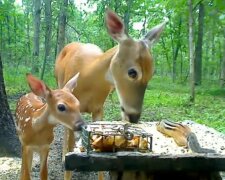
<svg viewBox="0 0 225 180">
<path fill-rule="evenodd" d="M 121 42 L 122 40 L 127 39 L 124 24 L 117 14 L 111 10 L 107 10 L 105 21 L 108 33 L 114 40 Z"/>
</svg>

